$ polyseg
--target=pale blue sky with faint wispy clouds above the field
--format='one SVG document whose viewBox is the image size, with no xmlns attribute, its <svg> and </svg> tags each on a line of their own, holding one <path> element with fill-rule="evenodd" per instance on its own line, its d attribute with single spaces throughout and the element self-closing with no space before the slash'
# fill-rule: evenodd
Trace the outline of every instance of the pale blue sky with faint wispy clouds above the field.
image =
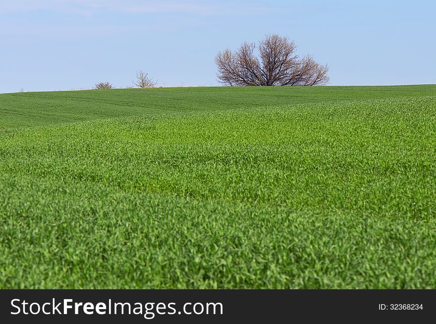
<svg viewBox="0 0 436 324">
<path fill-rule="evenodd" d="M 436 83 L 436 1 L 0 0 L 0 92 L 218 85 L 214 57 L 267 33 L 330 85 Z"/>
</svg>

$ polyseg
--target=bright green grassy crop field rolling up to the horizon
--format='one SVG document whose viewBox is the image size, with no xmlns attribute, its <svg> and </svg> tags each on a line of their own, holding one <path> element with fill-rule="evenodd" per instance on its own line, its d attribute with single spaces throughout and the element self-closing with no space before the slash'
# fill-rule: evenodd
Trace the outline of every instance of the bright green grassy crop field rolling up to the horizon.
<svg viewBox="0 0 436 324">
<path fill-rule="evenodd" d="M 436 288 L 436 85 L 1 94 L 0 288 Z"/>
</svg>

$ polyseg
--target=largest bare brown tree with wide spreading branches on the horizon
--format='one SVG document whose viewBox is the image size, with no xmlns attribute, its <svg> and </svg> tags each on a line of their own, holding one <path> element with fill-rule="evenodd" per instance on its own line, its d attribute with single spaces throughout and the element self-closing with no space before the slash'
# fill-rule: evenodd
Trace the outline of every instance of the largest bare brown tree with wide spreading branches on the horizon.
<svg viewBox="0 0 436 324">
<path fill-rule="evenodd" d="M 295 43 L 287 37 L 267 35 L 259 43 L 259 57 L 255 49 L 255 43 L 245 42 L 235 52 L 218 52 L 219 81 L 230 86 L 312 86 L 329 80 L 327 65 L 318 64 L 310 55 L 300 58 L 295 54 Z"/>
</svg>

